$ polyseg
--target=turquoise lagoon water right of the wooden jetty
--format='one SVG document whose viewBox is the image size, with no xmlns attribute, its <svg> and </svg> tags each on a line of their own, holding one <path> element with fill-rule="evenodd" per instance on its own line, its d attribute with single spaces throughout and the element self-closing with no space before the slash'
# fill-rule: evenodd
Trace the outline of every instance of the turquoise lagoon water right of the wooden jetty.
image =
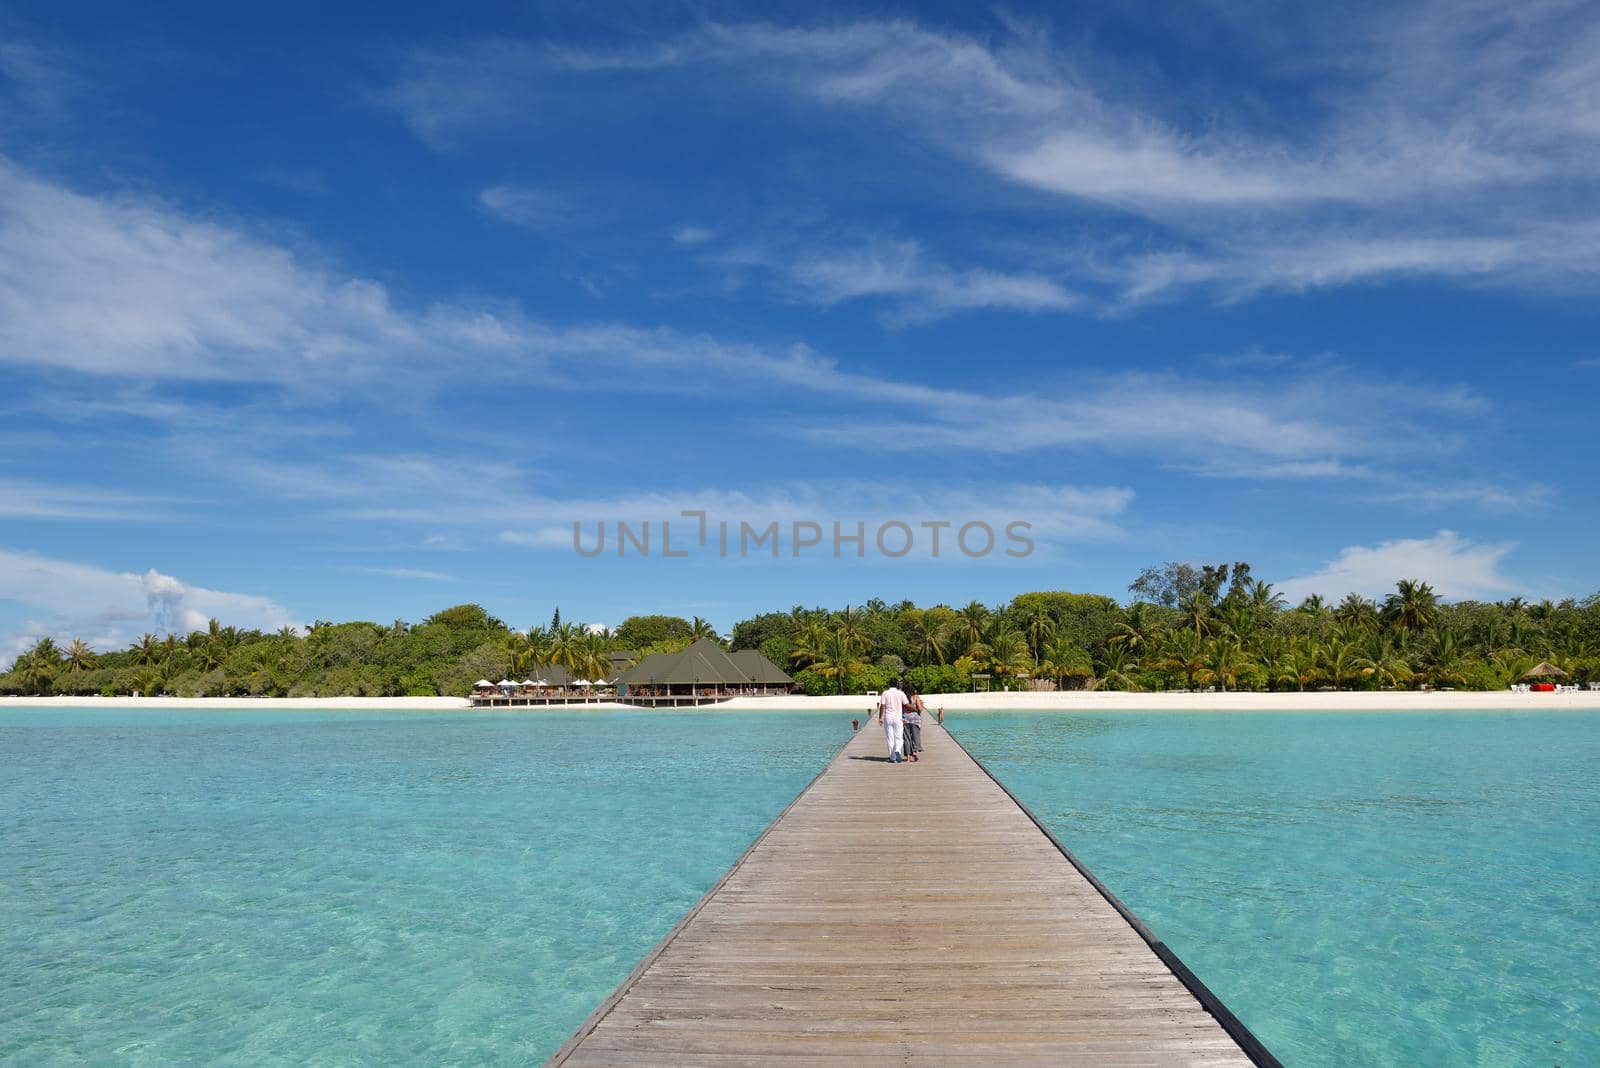
<svg viewBox="0 0 1600 1068">
<path fill-rule="evenodd" d="M 1286 1065 L 1600 1065 L 1600 716 L 947 726 Z"/>
</svg>

